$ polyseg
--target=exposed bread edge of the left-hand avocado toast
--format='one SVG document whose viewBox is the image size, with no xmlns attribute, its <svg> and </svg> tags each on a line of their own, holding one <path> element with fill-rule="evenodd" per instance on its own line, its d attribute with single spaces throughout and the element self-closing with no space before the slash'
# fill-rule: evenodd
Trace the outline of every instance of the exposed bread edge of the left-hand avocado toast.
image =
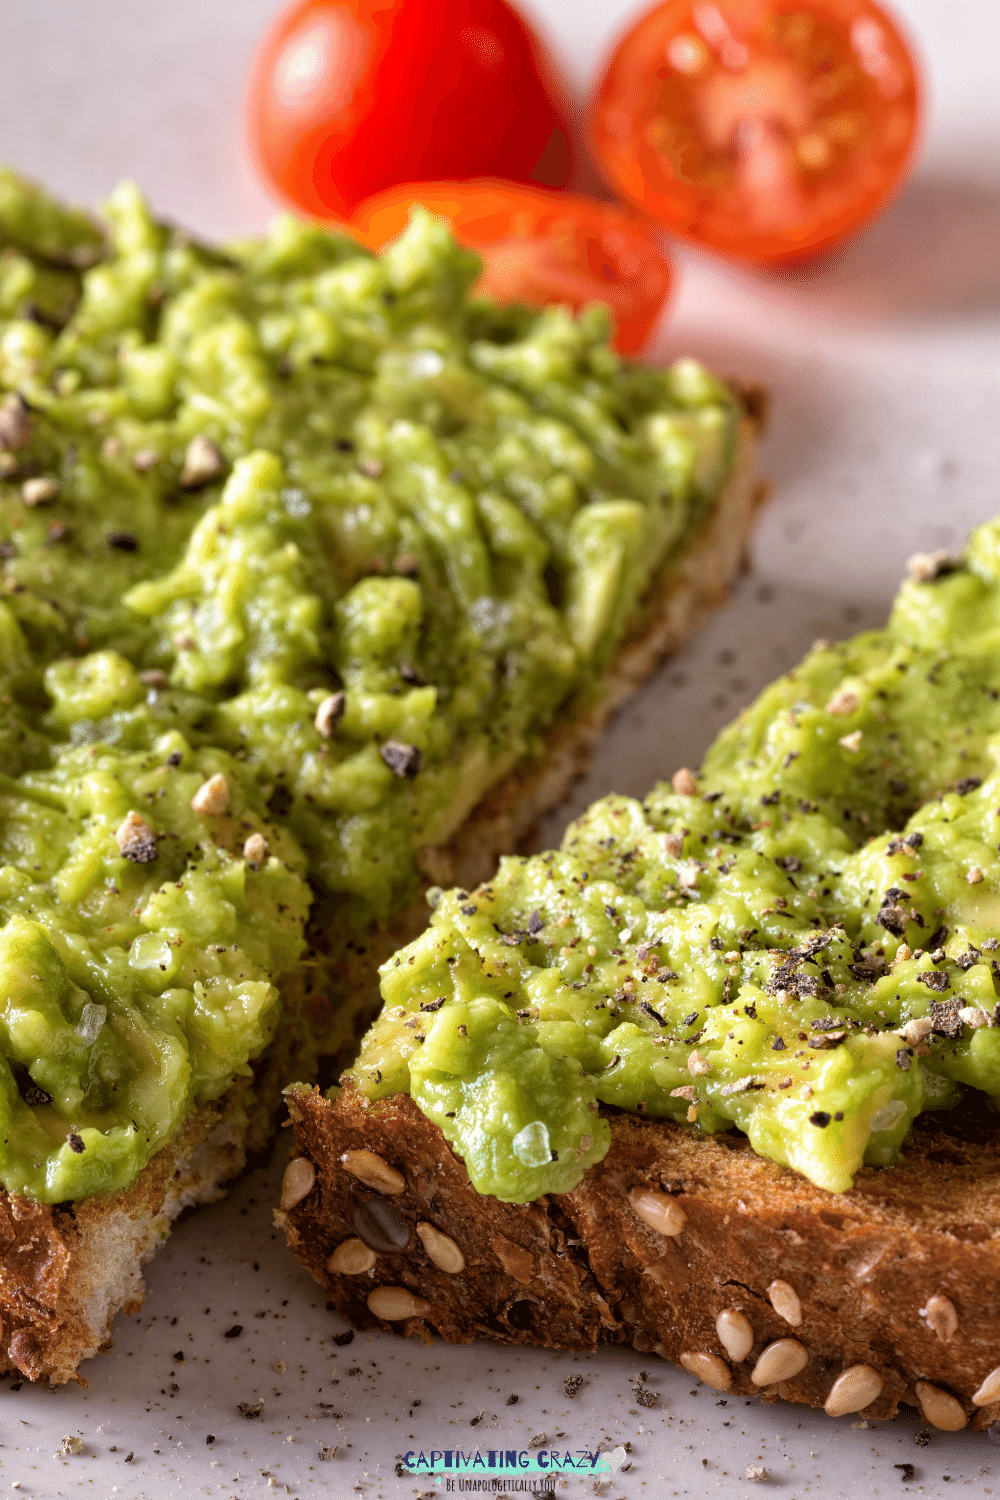
<svg viewBox="0 0 1000 1500">
<path fill-rule="evenodd" d="M 760 501 L 750 470 L 763 398 L 757 392 L 742 398 L 747 417 L 733 472 L 682 555 L 654 580 L 597 693 L 564 711 L 544 736 L 538 759 L 499 782 L 447 844 L 421 850 L 429 884 L 475 885 L 492 872 L 496 858 L 510 852 L 582 772 L 612 714 L 726 597 Z M 342 1004 L 360 1034 L 378 998 L 378 966 L 415 936 L 426 918 L 421 900 L 349 950 L 331 951 L 313 933 L 319 951 L 286 987 L 294 992 L 285 994 L 286 1006 L 324 1024 Z M 310 992 L 309 981 L 319 981 L 319 992 Z M 294 1052 L 271 1048 L 253 1080 L 237 1082 L 217 1104 L 193 1114 L 135 1182 L 111 1197 L 49 1206 L 0 1186 L 0 1372 L 16 1371 L 51 1384 L 79 1380 L 79 1364 L 108 1347 L 115 1312 L 135 1312 L 142 1305 L 142 1266 L 174 1220 L 196 1203 L 222 1197 L 247 1152 L 259 1150 L 273 1134 L 279 1084 L 297 1071 L 301 1076 L 303 1065 Z"/>
</svg>

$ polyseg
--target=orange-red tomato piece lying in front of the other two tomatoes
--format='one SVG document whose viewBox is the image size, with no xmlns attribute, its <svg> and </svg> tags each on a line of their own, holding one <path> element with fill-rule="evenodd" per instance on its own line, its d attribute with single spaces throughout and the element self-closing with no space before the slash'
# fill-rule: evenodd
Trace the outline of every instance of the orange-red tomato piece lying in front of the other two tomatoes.
<svg viewBox="0 0 1000 1500">
<path fill-rule="evenodd" d="M 369 198 L 351 226 L 372 249 L 400 234 L 420 202 L 483 256 L 477 290 L 498 302 L 603 302 L 615 345 L 640 348 L 670 291 L 670 266 L 655 228 L 633 213 L 577 194 L 514 183 L 406 183 Z"/>
</svg>

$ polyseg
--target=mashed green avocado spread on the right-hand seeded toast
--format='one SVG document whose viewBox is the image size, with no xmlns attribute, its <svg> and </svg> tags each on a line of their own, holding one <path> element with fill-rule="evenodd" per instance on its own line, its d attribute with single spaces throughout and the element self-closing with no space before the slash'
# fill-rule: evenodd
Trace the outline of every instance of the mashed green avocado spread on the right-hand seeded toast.
<svg viewBox="0 0 1000 1500">
<path fill-rule="evenodd" d="M 736 1126 L 844 1191 L 922 1110 L 1000 1101 L 1000 520 L 915 560 L 637 802 L 435 892 L 354 1070 L 508 1202 L 573 1188 L 600 1106 Z"/>
</svg>

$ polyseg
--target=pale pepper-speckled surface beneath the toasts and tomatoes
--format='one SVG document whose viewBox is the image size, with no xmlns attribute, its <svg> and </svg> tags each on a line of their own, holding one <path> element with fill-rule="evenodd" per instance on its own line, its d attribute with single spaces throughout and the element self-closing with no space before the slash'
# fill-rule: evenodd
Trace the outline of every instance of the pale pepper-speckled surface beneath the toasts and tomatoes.
<svg viewBox="0 0 1000 1500">
<path fill-rule="evenodd" d="M 259 226 L 270 206 L 241 156 L 238 99 L 273 9 L 3 0 L 0 156 L 79 201 L 132 176 L 195 230 Z M 534 6 L 580 87 L 636 9 Z M 928 63 L 931 116 L 895 207 L 807 272 L 754 276 L 679 256 L 658 352 L 702 354 L 771 387 L 760 470 L 772 501 L 753 573 L 621 717 L 547 840 L 592 796 L 640 794 L 694 764 L 816 636 L 879 622 L 910 552 L 958 543 L 1000 508 L 1000 12 L 988 0 L 900 9 Z M 568 1452 L 627 1449 L 597 1490 L 564 1474 L 567 1497 L 1000 1492 L 1000 1448 L 985 1434 L 925 1436 L 915 1414 L 832 1422 L 720 1396 L 627 1352 L 346 1338 L 270 1227 L 283 1146 L 178 1227 L 150 1266 L 142 1314 L 120 1320 L 114 1348 L 84 1368 L 88 1389 L 0 1386 L 0 1492 L 409 1500 L 444 1486 L 396 1474 L 408 1449 L 526 1449 L 538 1434 Z M 82 1440 L 79 1452 L 64 1438 Z M 766 1474 L 750 1480 L 748 1467 Z M 516 1482 L 523 1494 L 537 1479 Z"/>
</svg>

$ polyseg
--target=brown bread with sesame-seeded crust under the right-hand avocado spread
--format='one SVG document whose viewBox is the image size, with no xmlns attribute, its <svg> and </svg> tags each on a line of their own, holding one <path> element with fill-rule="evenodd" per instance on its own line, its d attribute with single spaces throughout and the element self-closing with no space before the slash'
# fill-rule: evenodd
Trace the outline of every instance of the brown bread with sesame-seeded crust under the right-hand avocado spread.
<svg viewBox="0 0 1000 1500">
<path fill-rule="evenodd" d="M 276 1214 L 357 1328 L 631 1344 L 738 1394 L 958 1431 L 1000 1416 L 1000 1125 L 921 1116 L 903 1162 L 829 1194 L 736 1132 L 604 1112 L 567 1194 L 477 1192 L 408 1095 L 289 1090 Z"/>
</svg>

